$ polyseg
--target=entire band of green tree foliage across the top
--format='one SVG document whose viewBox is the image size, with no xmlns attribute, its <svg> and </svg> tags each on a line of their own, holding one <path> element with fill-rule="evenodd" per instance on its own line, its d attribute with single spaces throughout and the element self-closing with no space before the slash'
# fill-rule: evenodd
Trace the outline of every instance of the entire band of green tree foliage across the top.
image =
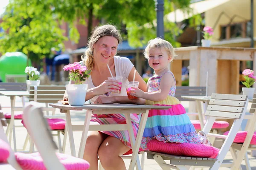
<svg viewBox="0 0 256 170">
<path fill-rule="evenodd" d="M 113 23 L 127 30 L 125 39 L 132 47 L 142 47 L 156 37 L 155 0 L 10 0 L 1 27 L 8 30 L 0 39 L 0 52 L 22 51 L 29 56 L 44 56 L 50 48 L 67 40 L 59 28 L 62 21 L 69 23 L 70 39 L 79 40 L 78 23 L 92 30 L 93 18 L 102 23 Z M 164 0 L 164 13 L 176 8 L 189 11 L 190 0 Z M 181 30 L 165 20 L 165 39 L 174 40 Z M 58 22 L 56 22 L 58 21 Z M 123 31 L 123 30 L 122 30 Z M 37 56 L 38 57 L 38 56 Z M 36 57 L 35 57 L 36 58 Z"/>
</svg>

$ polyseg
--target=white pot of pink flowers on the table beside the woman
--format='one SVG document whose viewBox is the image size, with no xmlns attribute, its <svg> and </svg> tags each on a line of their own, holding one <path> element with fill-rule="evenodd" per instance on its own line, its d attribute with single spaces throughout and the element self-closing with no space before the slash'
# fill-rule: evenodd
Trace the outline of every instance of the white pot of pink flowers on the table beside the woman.
<svg viewBox="0 0 256 170">
<path fill-rule="evenodd" d="M 65 65 L 64 71 L 69 72 L 69 78 L 75 82 L 75 84 L 66 85 L 68 103 L 71 106 L 82 106 L 85 102 L 87 84 L 84 84 L 85 80 L 90 76 L 90 70 L 86 66 L 82 66 L 79 62 Z"/>
</svg>

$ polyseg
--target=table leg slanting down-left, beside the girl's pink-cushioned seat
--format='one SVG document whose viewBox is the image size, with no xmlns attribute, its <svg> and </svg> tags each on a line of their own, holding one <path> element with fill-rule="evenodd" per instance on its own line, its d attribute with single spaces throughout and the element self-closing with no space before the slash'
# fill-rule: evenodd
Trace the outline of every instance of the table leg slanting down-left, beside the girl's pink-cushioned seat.
<svg viewBox="0 0 256 170">
<path fill-rule="evenodd" d="M 144 133 L 144 129 L 145 129 L 147 119 L 148 119 L 148 110 L 146 111 L 146 113 L 143 113 L 141 118 L 140 118 L 140 126 L 139 126 L 139 129 L 138 129 L 136 141 L 135 141 L 135 144 L 134 144 L 134 149 L 132 151 L 129 170 L 134 170 L 136 159 L 139 157 L 138 153 L 139 153 L 139 149 L 140 149 L 140 143 L 141 143 L 141 140 L 142 140 L 142 136 L 143 136 L 143 133 Z M 140 164 L 140 161 L 137 161 L 137 164 Z"/>
</svg>

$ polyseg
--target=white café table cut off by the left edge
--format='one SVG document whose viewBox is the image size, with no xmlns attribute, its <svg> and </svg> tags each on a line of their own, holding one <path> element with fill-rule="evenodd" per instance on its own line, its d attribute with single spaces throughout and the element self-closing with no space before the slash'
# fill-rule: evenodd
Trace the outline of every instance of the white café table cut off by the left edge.
<svg viewBox="0 0 256 170">
<path fill-rule="evenodd" d="M 14 110 L 15 110 L 15 98 L 16 96 L 29 96 L 29 92 L 28 91 L 0 91 L 0 94 L 4 95 L 4 96 L 8 96 L 11 98 L 11 119 L 10 119 L 10 130 L 9 130 L 9 143 L 11 144 L 12 142 L 12 131 L 13 131 L 13 143 L 14 143 L 14 151 L 17 151 L 17 147 L 16 147 L 16 139 L 15 139 L 15 126 L 14 126 Z M 23 103 L 24 105 L 24 103 Z"/>
</svg>

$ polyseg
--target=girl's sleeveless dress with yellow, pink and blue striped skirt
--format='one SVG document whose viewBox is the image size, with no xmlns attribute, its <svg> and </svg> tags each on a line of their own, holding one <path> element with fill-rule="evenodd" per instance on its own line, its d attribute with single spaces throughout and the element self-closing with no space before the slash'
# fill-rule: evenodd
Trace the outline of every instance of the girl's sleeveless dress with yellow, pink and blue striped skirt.
<svg viewBox="0 0 256 170">
<path fill-rule="evenodd" d="M 164 74 L 174 75 L 168 71 Z M 163 75 L 162 75 L 163 76 Z M 162 76 L 151 77 L 148 79 L 148 92 L 159 91 Z M 152 139 L 176 143 L 195 143 L 200 144 L 200 138 L 192 125 L 185 108 L 180 101 L 175 98 L 175 86 L 172 86 L 167 98 L 160 102 L 146 100 L 146 105 L 170 105 L 169 110 L 150 110 L 146 122 L 143 139 L 140 149 L 147 150 L 147 143 Z"/>
</svg>

